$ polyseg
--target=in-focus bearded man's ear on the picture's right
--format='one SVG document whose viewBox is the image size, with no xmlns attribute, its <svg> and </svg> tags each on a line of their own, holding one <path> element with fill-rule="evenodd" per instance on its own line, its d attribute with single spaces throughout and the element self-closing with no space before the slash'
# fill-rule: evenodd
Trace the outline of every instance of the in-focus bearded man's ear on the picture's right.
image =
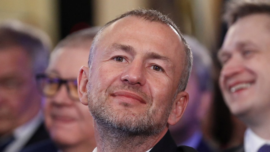
<svg viewBox="0 0 270 152">
<path fill-rule="evenodd" d="M 184 111 L 188 105 L 189 94 L 188 92 L 179 92 L 173 102 L 172 111 L 169 115 L 167 123 L 175 125 L 183 116 Z"/>
</svg>

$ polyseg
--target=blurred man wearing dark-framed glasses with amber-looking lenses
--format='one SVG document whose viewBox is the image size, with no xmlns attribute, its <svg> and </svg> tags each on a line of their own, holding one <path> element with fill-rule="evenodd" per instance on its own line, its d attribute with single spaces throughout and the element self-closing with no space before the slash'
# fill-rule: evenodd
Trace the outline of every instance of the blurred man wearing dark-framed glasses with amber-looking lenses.
<svg viewBox="0 0 270 152">
<path fill-rule="evenodd" d="M 92 151 L 96 147 L 93 119 L 80 103 L 77 75 L 87 65 L 90 46 L 98 28 L 83 29 L 68 35 L 52 51 L 45 74 L 38 76 L 43 95 L 45 124 L 52 142 L 44 142 L 27 152 Z"/>
</svg>

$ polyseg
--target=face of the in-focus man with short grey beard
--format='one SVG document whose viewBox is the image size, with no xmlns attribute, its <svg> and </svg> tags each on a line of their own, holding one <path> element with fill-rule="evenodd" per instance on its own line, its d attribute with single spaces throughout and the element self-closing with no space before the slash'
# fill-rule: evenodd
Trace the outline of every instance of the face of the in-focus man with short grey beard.
<svg viewBox="0 0 270 152">
<path fill-rule="evenodd" d="M 168 25 L 128 16 L 108 26 L 90 69 L 88 107 L 97 123 L 133 133 L 167 124 L 184 64 Z"/>
</svg>

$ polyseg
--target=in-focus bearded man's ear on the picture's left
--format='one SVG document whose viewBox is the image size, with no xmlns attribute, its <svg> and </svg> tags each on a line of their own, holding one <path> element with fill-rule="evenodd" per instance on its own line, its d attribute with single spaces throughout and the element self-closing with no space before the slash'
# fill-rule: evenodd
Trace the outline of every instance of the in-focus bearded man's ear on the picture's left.
<svg viewBox="0 0 270 152">
<path fill-rule="evenodd" d="M 78 94 L 80 98 L 80 102 L 84 105 L 88 105 L 87 102 L 87 83 L 89 77 L 89 68 L 86 66 L 82 66 L 80 68 L 77 82 L 78 82 Z"/>
</svg>

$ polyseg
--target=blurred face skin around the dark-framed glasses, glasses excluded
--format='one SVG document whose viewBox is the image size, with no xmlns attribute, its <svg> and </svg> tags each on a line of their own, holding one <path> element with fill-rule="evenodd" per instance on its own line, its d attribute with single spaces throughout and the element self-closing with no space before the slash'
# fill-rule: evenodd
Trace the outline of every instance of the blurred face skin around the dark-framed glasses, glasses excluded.
<svg viewBox="0 0 270 152">
<path fill-rule="evenodd" d="M 51 55 L 46 74 L 50 78 L 76 80 L 78 71 L 87 65 L 89 48 L 60 48 Z M 77 89 L 75 89 L 77 91 Z M 70 146 L 87 143 L 94 147 L 93 120 L 87 106 L 72 99 L 66 85 L 61 85 L 53 97 L 46 98 L 45 122 L 51 138 L 58 144 Z"/>
</svg>

